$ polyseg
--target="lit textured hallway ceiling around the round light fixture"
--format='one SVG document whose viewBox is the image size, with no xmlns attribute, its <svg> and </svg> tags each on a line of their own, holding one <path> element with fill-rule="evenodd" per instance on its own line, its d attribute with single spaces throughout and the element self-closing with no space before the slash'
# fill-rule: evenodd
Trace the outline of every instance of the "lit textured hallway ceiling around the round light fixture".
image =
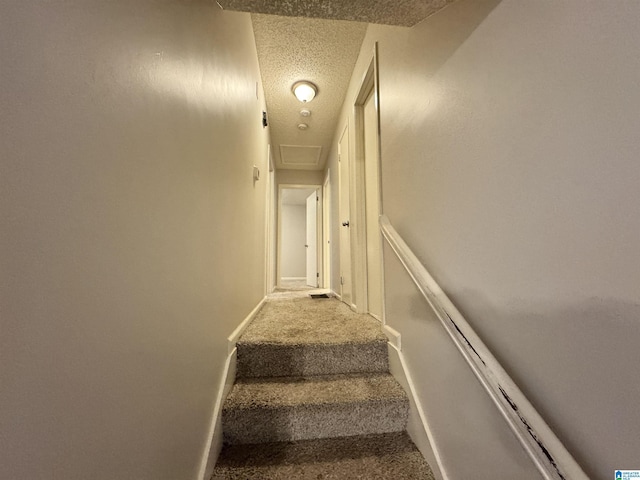
<svg viewBox="0 0 640 480">
<path fill-rule="evenodd" d="M 252 19 L 276 168 L 321 170 L 367 24 L 261 14 Z M 309 103 L 291 92 L 299 80 L 318 87 Z M 311 115 L 301 116 L 302 109 Z M 309 128 L 299 130 L 300 123 Z"/>
</svg>

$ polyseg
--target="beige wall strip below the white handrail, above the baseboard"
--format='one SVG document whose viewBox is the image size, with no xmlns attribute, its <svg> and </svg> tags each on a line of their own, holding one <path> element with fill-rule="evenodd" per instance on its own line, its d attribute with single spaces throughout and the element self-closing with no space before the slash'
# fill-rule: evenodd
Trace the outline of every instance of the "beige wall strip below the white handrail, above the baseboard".
<svg viewBox="0 0 640 480">
<path fill-rule="evenodd" d="M 385 242 L 388 318 L 402 332 L 402 351 L 437 450 L 444 478 L 539 480 L 493 401 L 433 310 Z"/>
</svg>

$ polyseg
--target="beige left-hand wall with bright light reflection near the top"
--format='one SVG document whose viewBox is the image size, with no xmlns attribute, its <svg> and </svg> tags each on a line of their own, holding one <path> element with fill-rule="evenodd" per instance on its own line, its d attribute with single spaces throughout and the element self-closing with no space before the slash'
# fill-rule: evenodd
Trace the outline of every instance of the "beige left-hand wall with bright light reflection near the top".
<svg viewBox="0 0 640 480">
<path fill-rule="evenodd" d="M 250 17 L 2 2 L 0 65 L 0 477 L 195 480 L 264 295 Z"/>
</svg>

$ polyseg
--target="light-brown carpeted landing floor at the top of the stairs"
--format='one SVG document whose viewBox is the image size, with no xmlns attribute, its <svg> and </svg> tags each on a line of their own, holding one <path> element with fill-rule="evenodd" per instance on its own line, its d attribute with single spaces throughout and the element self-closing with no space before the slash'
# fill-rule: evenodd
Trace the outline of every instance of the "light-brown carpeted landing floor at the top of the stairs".
<svg viewBox="0 0 640 480">
<path fill-rule="evenodd" d="M 380 322 L 336 299 L 267 301 L 238 345 L 340 345 L 386 343 Z"/>
</svg>

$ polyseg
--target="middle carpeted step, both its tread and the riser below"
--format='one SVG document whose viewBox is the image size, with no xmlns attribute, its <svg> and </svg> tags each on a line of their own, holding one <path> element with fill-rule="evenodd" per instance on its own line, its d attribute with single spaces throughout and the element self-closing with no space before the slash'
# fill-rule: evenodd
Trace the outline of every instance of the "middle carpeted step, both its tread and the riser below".
<svg viewBox="0 0 640 480">
<path fill-rule="evenodd" d="M 222 410 L 227 444 L 405 429 L 409 401 L 389 373 L 239 379 Z"/>
</svg>

